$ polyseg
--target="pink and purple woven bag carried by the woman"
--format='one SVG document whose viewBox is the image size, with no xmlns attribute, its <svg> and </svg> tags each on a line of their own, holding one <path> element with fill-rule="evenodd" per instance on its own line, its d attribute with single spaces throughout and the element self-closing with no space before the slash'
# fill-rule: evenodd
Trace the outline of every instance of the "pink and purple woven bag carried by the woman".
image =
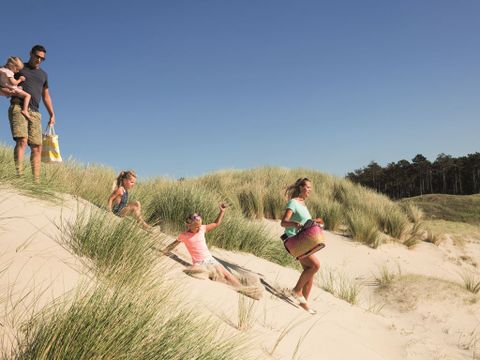
<svg viewBox="0 0 480 360">
<path fill-rule="evenodd" d="M 308 221 L 296 235 L 287 238 L 283 245 L 297 260 L 302 259 L 325 247 L 323 230 L 314 221 Z"/>
</svg>

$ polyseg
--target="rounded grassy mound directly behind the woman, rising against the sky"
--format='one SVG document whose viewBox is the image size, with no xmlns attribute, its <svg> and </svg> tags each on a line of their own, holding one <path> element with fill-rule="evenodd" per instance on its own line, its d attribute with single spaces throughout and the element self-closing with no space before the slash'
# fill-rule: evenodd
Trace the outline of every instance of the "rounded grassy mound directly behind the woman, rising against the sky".
<svg viewBox="0 0 480 360">
<path fill-rule="evenodd" d="M 308 177 L 314 191 L 307 200 L 313 217 L 322 217 L 327 230 L 337 230 L 347 225 L 354 239 L 376 247 L 380 244 L 378 233 L 389 235 L 402 242 L 408 236 L 410 216 L 418 218 L 414 208 L 403 208 L 386 196 L 363 188 L 348 180 L 308 169 L 259 168 L 245 171 L 222 171 L 194 179 L 196 184 L 214 184 L 215 189 L 240 207 L 248 218 L 262 216 L 259 202 L 263 197 L 263 216 L 273 214 L 279 218 L 286 200 L 282 194 L 288 184 L 299 177 Z M 267 195 L 268 194 L 268 195 Z M 272 197 L 276 201 L 272 202 Z M 268 199 L 268 203 L 265 199 Z M 268 209 L 268 210 L 266 210 Z M 368 228 L 368 231 L 366 230 Z M 375 231 L 376 230 L 376 231 Z"/>
</svg>

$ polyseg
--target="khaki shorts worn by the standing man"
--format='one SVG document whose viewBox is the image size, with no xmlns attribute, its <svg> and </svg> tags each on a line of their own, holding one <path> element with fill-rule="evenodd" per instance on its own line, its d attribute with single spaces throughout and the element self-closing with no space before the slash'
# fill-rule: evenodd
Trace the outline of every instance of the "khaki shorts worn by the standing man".
<svg viewBox="0 0 480 360">
<path fill-rule="evenodd" d="M 42 145 L 42 114 L 29 111 L 31 120 L 22 114 L 20 105 L 10 105 L 8 120 L 12 130 L 13 140 L 27 138 L 28 145 Z"/>
</svg>

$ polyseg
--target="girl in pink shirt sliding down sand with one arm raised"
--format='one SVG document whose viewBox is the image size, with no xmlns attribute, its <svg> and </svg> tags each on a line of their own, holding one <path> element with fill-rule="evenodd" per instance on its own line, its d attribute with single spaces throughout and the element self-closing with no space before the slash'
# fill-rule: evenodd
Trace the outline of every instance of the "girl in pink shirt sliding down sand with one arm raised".
<svg viewBox="0 0 480 360">
<path fill-rule="evenodd" d="M 242 284 L 240 281 L 238 281 L 234 275 L 232 275 L 222 266 L 222 264 L 213 258 L 212 254 L 210 254 L 210 251 L 208 250 L 207 241 L 205 239 L 205 234 L 207 232 L 220 225 L 223 216 L 225 215 L 226 208 L 226 204 L 220 204 L 220 213 L 218 214 L 215 222 L 211 224 L 202 225 L 202 218 L 196 213 L 188 216 L 186 219 L 188 230 L 178 235 L 177 239 L 163 250 L 163 253 L 167 254 L 183 242 L 190 253 L 190 256 L 192 257 L 193 265 L 214 266 L 230 285 L 234 287 L 241 287 Z"/>
</svg>

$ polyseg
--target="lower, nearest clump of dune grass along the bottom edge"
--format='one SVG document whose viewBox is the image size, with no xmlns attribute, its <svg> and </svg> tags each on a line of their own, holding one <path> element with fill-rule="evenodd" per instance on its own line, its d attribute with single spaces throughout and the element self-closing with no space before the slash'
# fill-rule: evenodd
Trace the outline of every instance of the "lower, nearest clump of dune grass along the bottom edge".
<svg viewBox="0 0 480 360">
<path fill-rule="evenodd" d="M 221 339 L 218 325 L 205 320 L 171 303 L 153 283 L 135 289 L 98 285 L 25 324 L 8 358 L 245 358 L 238 339 Z"/>
</svg>

